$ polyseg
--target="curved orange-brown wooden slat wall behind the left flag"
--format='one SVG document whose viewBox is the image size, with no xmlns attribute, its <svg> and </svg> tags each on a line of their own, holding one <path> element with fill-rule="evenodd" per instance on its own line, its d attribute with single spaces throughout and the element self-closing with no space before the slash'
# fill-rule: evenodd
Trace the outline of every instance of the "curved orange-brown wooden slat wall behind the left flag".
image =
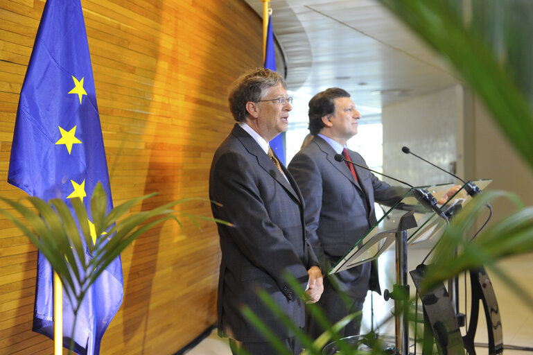
<svg viewBox="0 0 533 355">
<path fill-rule="evenodd" d="M 43 0 L 0 3 L 0 194 L 17 103 Z M 262 23 L 242 0 L 82 0 L 115 204 L 207 198 L 214 150 L 233 125 L 230 83 L 260 67 Z M 211 216 L 207 202 L 189 213 Z M 173 354 L 216 322 L 220 252 L 213 223 L 182 218 L 122 254 L 124 300 L 102 354 Z M 0 218 L 0 354 L 52 354 L 32 333 L 37 252 Z"/>
</svg>

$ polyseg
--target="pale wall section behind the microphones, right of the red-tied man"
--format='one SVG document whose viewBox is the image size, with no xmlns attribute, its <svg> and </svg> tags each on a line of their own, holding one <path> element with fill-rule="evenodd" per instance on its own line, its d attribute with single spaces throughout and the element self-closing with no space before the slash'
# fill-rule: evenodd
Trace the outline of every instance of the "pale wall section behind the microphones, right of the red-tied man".
<svg viewBox="0 0 533 355">
<path fill-rule="evenodd" d="M 383 171 L 413 185 L 453 182 L 453 177 L 401 151 L 451 170 L 457 156 L 457 87 L 383 107 Z"/>
</svg>

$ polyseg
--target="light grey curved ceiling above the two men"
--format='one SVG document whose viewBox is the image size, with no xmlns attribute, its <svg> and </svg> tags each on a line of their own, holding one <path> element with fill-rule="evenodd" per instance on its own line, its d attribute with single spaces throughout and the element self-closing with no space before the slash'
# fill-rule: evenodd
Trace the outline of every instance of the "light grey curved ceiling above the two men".
<svg viewBox="0 0 533 355">
<path fill-rule="evenodd" d="M 245 1 L 263 17 L 261 0 Z M 377 1 L 271 0 L 270 7 L 288 90 L 304 108 L 314 94 L 336 86 L 350 92 L 363 119 L 379 120 L 383 105 L 459 82 Z"/>
</svg>

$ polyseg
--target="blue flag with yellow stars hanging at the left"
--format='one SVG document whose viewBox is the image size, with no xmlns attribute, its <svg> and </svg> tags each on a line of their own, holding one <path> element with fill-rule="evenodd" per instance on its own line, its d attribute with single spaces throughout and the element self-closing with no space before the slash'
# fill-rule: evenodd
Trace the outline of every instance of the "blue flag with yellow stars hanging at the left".
<svg viewBox="0 0 533 355">
<path fill-rule="evenodd" d="M 44 200 L 81 198 L 85 207 L 101 182 L 108 212 L 112 209 L 80 0 L 48 0 L 44 6 L 20 93 L 8 182 Z M 87 248 L 86 252 L 89 255 Z M 76 334 L 71 334 L 73 305 L 63 295 L 64 346 L 73 337 L 78 354 L 99 354 L 104 331 L 122 303 L 120 257 L 85 296 Z M 33 331 L 53 338 L 53 270 L 41 253 Z"/>
</svg>

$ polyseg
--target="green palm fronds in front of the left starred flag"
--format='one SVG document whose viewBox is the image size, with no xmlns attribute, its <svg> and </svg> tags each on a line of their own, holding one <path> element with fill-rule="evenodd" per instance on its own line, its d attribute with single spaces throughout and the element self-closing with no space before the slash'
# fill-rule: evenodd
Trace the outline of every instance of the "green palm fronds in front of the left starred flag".
<svg viewBox="0 0 533 355">
<path fill-rule="evenodd" d="M 179 223 L 179 220 L 173 216 L 180 214 L 173 209 L 175 205 L 191 200 L 205 200 L 204 198 L 177 200 L 122 218 L 139 202 L 153 196 L 155 193 L 133 198 L 107 213 L 107 197 L 101 184 L 98 184 L 90 203 L 96 232 L 95 242 L 89 228 L 89 214 L 81 200 L 77 198 L 70 200 L 72 206 L 70 209 L 63 200 L 58 199 L 46 202 L 35 197 L 24 198 L 23 200 L 30 202 L 33 207 L 30 208 L 20 202 L 0 197 L 0 200 L 10 207 L 10 209 L 0 208 L 0 213 L 28 236 L 31 243 L 49 261 L 61 279 L 63 289 L 73 305 L 76 319 L 79 306 L 91 285 L 130 243 L 168 219 Z M 17 211 L 19 216 L 12 214 L 11 209 Z M 182 215 L 191 218 L 194 223 L 196 219 L 202 219 L 231 225 L 205 216 Z M 119 221 L 119 218 L 122 220 Z M 104 234 L 106 231 L 107 234 Z M 73 327 L 75 325 L 76 320 L 73 322 Z"/>
</svg>

